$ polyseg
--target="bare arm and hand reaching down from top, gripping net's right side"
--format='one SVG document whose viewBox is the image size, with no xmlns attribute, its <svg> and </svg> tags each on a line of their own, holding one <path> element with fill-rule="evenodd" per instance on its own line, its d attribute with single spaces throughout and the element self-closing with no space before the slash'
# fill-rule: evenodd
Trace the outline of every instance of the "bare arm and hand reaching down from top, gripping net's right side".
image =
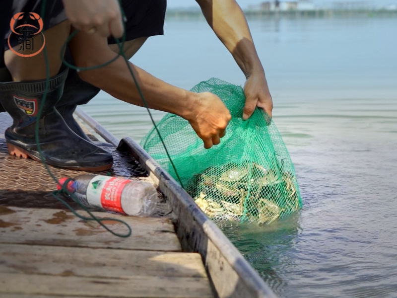
<svg viewBox="0 0 397 298">
<path fill-rule="evenodd" d="M 243 11 L 235 0 L 196 0 L 216 36 L 225 45 L 247 81 L 244 87 L 246 105 L 244 119 L 256 106 L 271 117 L 273 102 L 267 86 L 265 71 L 259 60 L 254 41 Z"/>
</svg>

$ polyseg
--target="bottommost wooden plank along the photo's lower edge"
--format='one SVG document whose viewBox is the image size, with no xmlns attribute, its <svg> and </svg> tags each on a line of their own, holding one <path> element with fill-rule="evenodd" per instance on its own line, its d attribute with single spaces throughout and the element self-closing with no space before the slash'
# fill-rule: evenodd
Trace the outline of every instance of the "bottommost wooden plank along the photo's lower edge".
<svg viewBox="0 0 397 298">
<path fill-rule="evenodd" d="M 133 276 L 100 279 L 0 273 L 0 293 L 85 297 L 209 298 L 202 278 Z"/>
</svg>

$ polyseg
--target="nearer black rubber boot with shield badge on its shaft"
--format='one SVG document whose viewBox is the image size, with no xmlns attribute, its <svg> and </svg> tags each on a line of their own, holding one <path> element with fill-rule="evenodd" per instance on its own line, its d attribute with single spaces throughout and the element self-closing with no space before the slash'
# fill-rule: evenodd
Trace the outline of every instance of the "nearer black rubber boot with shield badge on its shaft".
<svg viewBox="0 0 397 298">
<path fill-rule="evenodd" d="M 67 71 L 49 80 L 49 90 L 40 119 L 45 80 L 1 82 L 0 102 L 13 119 L 5 131 L 11 155 L 41 161 L 35 140 L 35 124 L 39 123 L 39 142 L 46 163 L 66 169 L 104 171 L 113 163 L 112 155 L 77 136 L 55 109 L 61 98 Z"/>
</svg>

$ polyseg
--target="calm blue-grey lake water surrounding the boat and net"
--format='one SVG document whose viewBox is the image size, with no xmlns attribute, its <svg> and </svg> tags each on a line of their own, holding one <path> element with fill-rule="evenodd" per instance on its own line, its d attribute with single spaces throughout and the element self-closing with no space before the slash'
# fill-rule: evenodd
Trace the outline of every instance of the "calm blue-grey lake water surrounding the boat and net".
<svg viewBox="0 0 397 298">
<path fill-rule="evenodd" d="M 249 22 L 304 208 L 223 231 L 281 297 L 397 297 L 397 18 Z M 187 89 L 212 76 L 244 83 L 203 20 L 168 19 L 165 34 L 132 61 Z M 83 109 L 118 138 L 151 127 L 106 93 Z"/>
</svg>

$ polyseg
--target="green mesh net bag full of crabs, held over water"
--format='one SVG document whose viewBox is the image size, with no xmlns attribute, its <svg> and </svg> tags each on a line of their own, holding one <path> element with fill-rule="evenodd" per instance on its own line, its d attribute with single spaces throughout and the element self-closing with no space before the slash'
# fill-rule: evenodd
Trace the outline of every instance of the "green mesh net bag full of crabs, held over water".
<svg viewBox="0 0 397 298">
<path fill-rule="evenodd" d="M 232 119 L 221 143 L 204 149 L 187 120 L 167 114 L 157 128 L 180 180 L 154 128 L 141 146 L 213 221 L 269 224 L 300 209 L 294 166 L 281 135 L 262 109 L 243 120 L 242 87 L 211 78 L 191 91 L 212 92 L 229 109 Z"/>
</svg>

